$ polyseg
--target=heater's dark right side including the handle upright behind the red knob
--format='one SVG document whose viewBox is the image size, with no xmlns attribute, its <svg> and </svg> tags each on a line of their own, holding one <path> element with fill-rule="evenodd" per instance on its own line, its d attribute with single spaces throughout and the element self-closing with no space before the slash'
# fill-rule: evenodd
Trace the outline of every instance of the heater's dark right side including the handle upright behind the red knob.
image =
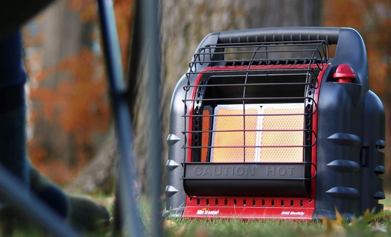
<svg viewBox="0 0 391 237">
<path fill-rule="evenodd" d="M 348 64 L 352 83 L 336 82 L 337 66 Z M 360 34 L 341 28 L 334 59 L 321 85 L 318 114 L 315 217 L 347 217 L 362 210 L 362 145 L 365 96 L 369 90 L 368 62 Z"/>
</svg>

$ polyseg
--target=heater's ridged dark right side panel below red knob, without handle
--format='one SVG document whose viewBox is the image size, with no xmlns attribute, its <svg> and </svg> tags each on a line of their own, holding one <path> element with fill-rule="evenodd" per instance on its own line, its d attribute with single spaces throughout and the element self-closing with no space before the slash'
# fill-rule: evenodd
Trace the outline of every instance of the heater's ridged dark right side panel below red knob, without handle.
<svg viewBox="0 0 391 237">
<path fill-rule="evenodd" d="M 318 102 L 318 146 L 315 217 L 347 217 L 361 212 L 361 145 L 363 86 L 330 81 L 325 73 Z"/>
</svg>

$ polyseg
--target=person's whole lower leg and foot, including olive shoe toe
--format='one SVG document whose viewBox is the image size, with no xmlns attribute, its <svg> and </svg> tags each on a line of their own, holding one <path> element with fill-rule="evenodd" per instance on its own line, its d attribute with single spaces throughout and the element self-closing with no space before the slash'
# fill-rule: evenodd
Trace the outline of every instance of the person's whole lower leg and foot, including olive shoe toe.
<svg viewBox="0 0 391 237">
<path fill-rule="evenodd" d="M 83 230 L 101 228 L 109 222 L 106 207 L 86 198 L 66 195 L 57 185 L 44 178 L 27 158 L 26 73 L 22 57 L 20 31 L 0 39 L 0 163 L 27 184 L 26 192 L 29 187 L 33 194 L 75 227 Z M 9 218 L 14 214 L 9 208 L 3 209 L 0 214 L 4 216 L 0 222 L 4 222 L 4 219 L 12 222 L 14 219 Z"/>
</svg>

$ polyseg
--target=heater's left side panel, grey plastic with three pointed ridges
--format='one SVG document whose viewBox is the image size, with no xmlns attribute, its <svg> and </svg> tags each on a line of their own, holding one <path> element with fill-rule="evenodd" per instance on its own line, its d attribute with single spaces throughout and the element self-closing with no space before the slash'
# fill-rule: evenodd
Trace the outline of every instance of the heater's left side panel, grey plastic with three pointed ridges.
<svg viewBox="0 0 391 237">
<path fill-rule="evenodd" d="M 200 57 L 198 53 L 205 53 L 201 50 L 202 47 L 206 47 L 209 44 L 216 44 L 218 40 L 219 32 L 211 33 L 207 35 L 198 45 L 195 51 L 193 60 Z M 214 53 L 215 49 L 208 50 L 208 53 Z M 204 60 L 211 60 L 213 54 L 202 54 Z M 170 131 L 167 138 L 167 144 L 169 146 L 168 160 L 166 163 L 167 168 L 167 186 L 165 193 L 167 197 L 166 212 L 163 215 L 181 217 L 183 210 L 186 206 L 186 194 L 183 189 L 183 182 L 180 179 L 183 175 L 182 162 L 185 162 L 185 150 L 182 146 L 186 145 L 186 137 L 183 131 L 186 131 L 189 124 L 183 122 L 183 115 L 188 115 L 189 109 L 185 111 L 185 108 L 190 108 L 191 104 L 187 101 L 186 106 L 183 103 L 183 99 L 188 99 L 191 96 L 191 90 L 185 90 L 186 85 L 193 85 L 196 79 L 195 72 L 199 72 L 204 67 L 209 66 L 209 63 L 190 63 L 190 68 L 187 74 L 183 75 L 176 84 L 174 89 L 173 98 L 170 106 Z"/>
</svg>

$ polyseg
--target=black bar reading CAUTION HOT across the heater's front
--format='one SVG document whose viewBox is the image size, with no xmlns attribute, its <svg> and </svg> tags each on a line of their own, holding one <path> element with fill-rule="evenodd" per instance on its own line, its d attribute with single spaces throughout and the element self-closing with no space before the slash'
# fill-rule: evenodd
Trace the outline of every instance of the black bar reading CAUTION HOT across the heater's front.
<svg viewBox="0 0 391 237">
<path fill-rule="evenodd" d="M 184 162 L 183 177 L 186 193 L 196 197 L 212 196 L 287 196 L 306 197 L 304 182 L 316 177 L 312 162 L 286 163 L 209 163 Z M 314 167 L 315 173 L 306 177 L 305 170 Z M 271 184 L 274 190 L 270 191 Z M 265 190 L 269 190 L 268 192 Z M 292 191 L 295 193 L 292 194 Z M 278 192 L 278 193 L 276 193 Z"/>
</svg>

